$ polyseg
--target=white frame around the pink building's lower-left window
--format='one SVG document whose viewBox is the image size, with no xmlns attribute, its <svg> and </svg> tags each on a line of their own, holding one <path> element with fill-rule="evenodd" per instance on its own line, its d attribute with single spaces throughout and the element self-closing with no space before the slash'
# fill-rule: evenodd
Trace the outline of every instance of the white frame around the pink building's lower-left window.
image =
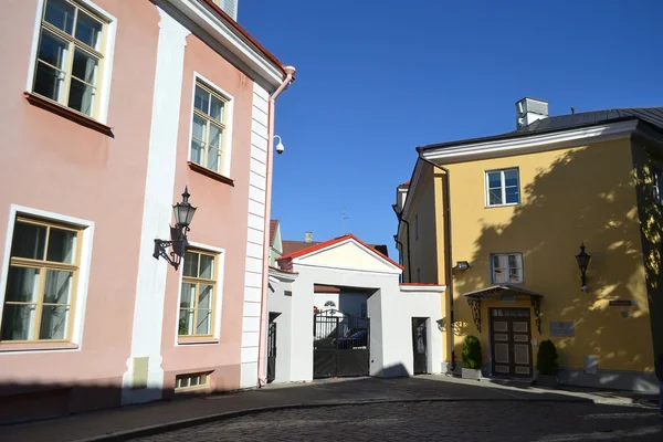
<svg viewBox="0 0 663 442">
<path fill-rule="evenodd" d="M 7 292 L 7 277 L 9 274 L 9 265 L 11 262 L 11 243 L 13 240 L 13 230 L 17 218 L 19 217 L 36 217 L 43 218 L 46 221 L 53 221 L 61 224 L 70 224 L 81 229 L 81 261 L 78 267 L 78 285 L 76 287 L 76 304 L 75 314 L 72 323 L 72 340 L 71 345 L 75 348 L 62 347 L 61 344 L 50 344 L 48 341 L 34 341 L 25 344 L 14 351 L 0 351 L 0 357 L 4 354 L 15 352 L 50 352 L 50 351 L 81 351 L 83 348 L 83 326 L 85 324 L 85 306 L 87 305 L 87 288 L 90 284 L 90 267 L 92 262 L 92 243 L 94 238 L 94 221 L 73 218 L 65 214 L 46 212 L 44 210 L 28 208 L 18 204 L 11 204 L 9 208 L 9 222 L 7 228 L 7 236 L 4 240 L 4 259 L 2 261 L 2 271 L 0 273 L 0 318 L 4 308 L 4 297 Z M 1 319 L 0 319 L 1 320 Z M 4 347 L 2 347 L 4 348 Z"/>
</svg>

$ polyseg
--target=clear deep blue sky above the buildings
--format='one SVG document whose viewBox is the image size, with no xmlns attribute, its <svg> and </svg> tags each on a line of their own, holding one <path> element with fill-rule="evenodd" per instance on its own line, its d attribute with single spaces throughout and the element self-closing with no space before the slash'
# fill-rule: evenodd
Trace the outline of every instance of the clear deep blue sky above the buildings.
<svg viewBox="0 0 663 442">
<path fill-rule="evenodd" d="M 297 67 L 272 218 L 286 240 L 351 232 L 398 259 L 391 204 L 417 146 L 513 130 L 524 96 L 550 115 L 663 106 L 662 18 L 657 0 L 240 0 L 238 21 Z"/>
</svg>

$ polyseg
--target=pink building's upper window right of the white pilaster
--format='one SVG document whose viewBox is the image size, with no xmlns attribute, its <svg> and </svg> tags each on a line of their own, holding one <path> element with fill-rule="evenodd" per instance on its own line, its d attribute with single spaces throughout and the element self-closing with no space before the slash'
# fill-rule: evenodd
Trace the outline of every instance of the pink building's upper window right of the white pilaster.
<svg viewBox="0 0 663 442">
<path fill-rule="evenodd" d="M 196 82 L 191 161 L 220 175 L 228 173 L 224 170 L 228 104 L 228 98 L 201 81 Z"/>
</svg>

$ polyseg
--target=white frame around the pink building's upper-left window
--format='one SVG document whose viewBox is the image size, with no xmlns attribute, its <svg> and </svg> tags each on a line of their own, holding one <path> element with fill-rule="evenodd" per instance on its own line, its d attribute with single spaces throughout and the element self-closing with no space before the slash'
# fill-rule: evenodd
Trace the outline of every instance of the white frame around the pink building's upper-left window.
<svg viewBox="0 0 663 442">
<path fill-rule="evenodd" d="M 46 3 L 46 0 L 38 0 L 38 1 L 39 2 L 36 6 L 36 17 L 34 20 L 34 30 L 33 30 L 33 34 L 32 34 L 32 50 L 30 51 L 30 62 L 29 62 L 30 64 L 28 66 L 28 82 L 25 83 L 25 91 L 30 92 L 31 94 L 33 93 L 32 91 L 33 91 L 33 85 L 34 85 L 34 71 L 36 67 L 36 52 L 39 50 L 39 35 L 41 32 L 44 6 Z M 117 19 L 90 0 L 71 0 L 71 1 L 73 1 L 74 3 L 81 4 L 81 7 L 83 7 L 84 9 L 90 9 L 90 10 L 94 11 L 96 14 L 98 14 L 105 21 L 108 22 L 108 24 L 106 27 L 107 33 L 105 35 L 106 48 L 104 48 L 104 51 L 102 52 L 104 54 L 104 69 L 103 69 L 103 72 L 99 73 L 102 81 L 97 87 L 97 91 L 99 94 L 99 97 L 98 97 L 99 108 L 96 114 L 96 117 L 85 115 L 87 118 L 92 118 L 99 123 L 107 124 L 108 123 L 108 103 L 110 101 L 110 84 L 112 84 L 112 75 L 113 75 L 113 54 L 115 53 L 115 35 L 117 33 Z M 70 108 L 65 105 L 61 105 L 61 106 L 66 107 L 67 109 Z M 72 109 L 72 110 L 77 112 L 75 109 Z M 81 114 L 81 115 L 84 115 L 84 114 Z"/>
</svg>

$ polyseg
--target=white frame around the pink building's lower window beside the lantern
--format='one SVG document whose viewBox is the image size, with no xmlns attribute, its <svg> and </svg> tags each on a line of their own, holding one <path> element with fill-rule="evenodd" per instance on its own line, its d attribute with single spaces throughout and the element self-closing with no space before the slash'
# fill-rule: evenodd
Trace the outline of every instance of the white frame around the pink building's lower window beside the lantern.
<svg viewBox="0 0 663 442">
<path fill-rule="evenodd" d="M 210 344 L 219 344 L 221 339 L 221 314 L 223 313 L 223 271 L 225 269 L 225 249 L 215 248 L 213 245 L 201 244 L 198 242 L 189 241 L 189 246 L 191 249 L 198 249 L 201 252 L 207 252 L 210 254 L 217 255 L 217 298 L 214 299 L 214 333 L 212 337 L 200 337 L 198 340 L 196 336 L 186 337 L 186 339 L 180 340 L 180 336 L 178 334 L 179 330 L 179 306 L 180 299 L 182 296 L 182 281 L 185 277 L 185 272 L 179 272 L 179 282 L 177 287 L 177 305 L 176 315 L 175 315 L 175 346 L 176 347 L 194 347 L 194 346 L 209 346 Z M 185 257 L 182 256 L 182 261 L 180 263 L 180 269 L 185 267 Z"/>
</svg>

